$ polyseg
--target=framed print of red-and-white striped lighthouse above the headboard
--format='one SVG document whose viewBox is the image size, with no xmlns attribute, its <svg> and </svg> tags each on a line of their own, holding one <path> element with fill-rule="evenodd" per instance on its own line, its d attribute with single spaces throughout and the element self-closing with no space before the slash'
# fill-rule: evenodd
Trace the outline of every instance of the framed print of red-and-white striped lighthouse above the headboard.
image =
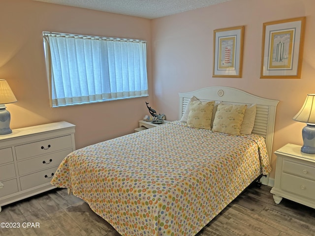
<svg viewBox="0 0 315 236">
<path fill-rule="evenodd" d="M 244 28 L 214 30 L 212 77 L 242 77 Z"/>
</svg>

